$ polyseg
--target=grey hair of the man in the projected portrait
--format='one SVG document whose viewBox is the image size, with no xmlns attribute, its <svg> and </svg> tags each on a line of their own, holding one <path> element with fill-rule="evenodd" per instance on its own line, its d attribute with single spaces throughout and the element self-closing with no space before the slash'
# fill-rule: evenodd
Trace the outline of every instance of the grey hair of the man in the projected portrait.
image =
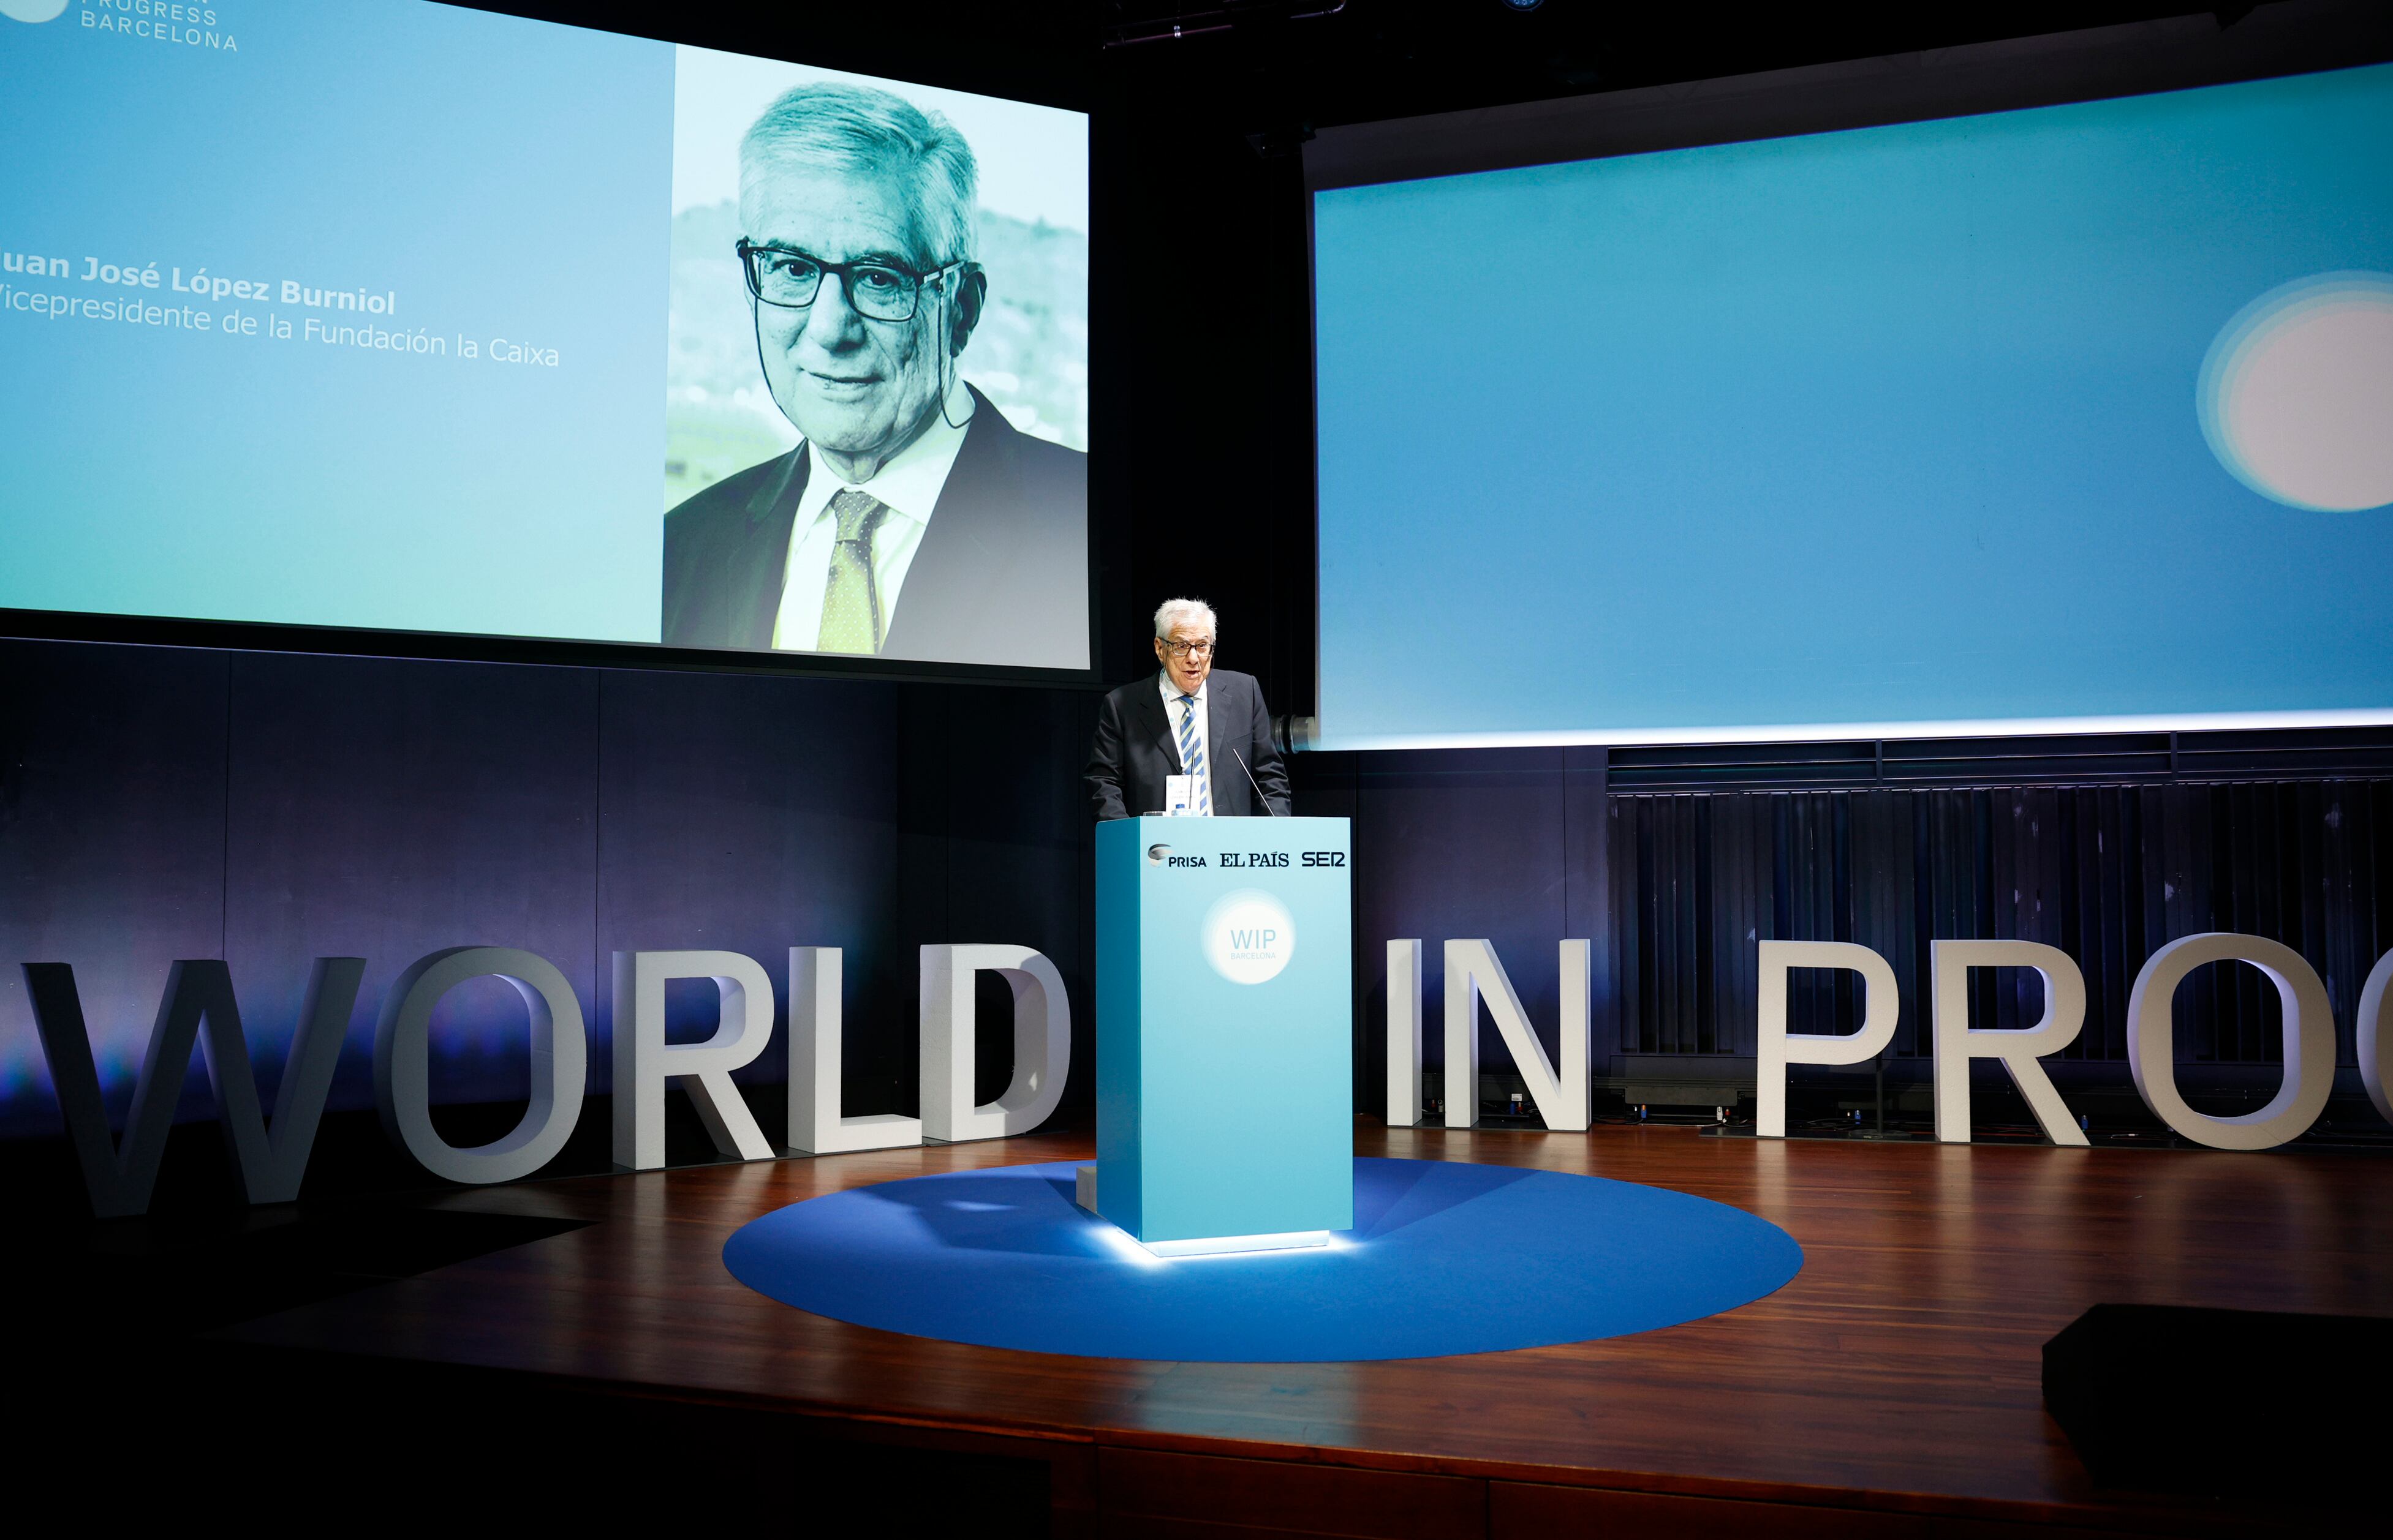
<svg viewBox="0 0 2393 1540">
<path fill-rule="evenodd" d="M 739 206 L 787 167 L 838 167 L 897 177 L 928 251 L 931 268 L 969 263 L 979 249 L 981 167 L 972 146 L 938 110 L 847 81 L 809 81 L 783 91 L 739 139 Z"/>
</svg>

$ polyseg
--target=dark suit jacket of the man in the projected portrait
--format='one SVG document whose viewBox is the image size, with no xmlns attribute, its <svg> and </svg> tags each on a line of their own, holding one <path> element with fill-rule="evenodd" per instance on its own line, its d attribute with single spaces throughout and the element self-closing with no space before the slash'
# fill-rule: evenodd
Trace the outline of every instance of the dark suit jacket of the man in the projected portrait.
<svg viewBox="0 0 2393 1540">
<path fill-rule="evenodd" d="M 972 402 L 881 655 L 1089 667 L 1089 457 Z M 809 464 L 799 445 L 665 514 L 668 646 L 773 646 Z"/>
</svg>

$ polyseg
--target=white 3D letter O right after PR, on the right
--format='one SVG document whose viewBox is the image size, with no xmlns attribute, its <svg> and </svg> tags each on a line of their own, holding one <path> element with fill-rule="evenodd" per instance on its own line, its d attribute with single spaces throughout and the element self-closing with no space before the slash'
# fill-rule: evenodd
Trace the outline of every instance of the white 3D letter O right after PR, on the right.
<svg viewBox="0 0 2393 1540">
<path fill-rule="evenodd" d="M 2285 1007 L 2285 1083 L 2259 1112 L 2206 1117 L 2178 1095 L 2178 985 L 2214 961 L 2247 961 L 2269 976 Z M 2211 930 L 2173 940 L 2151 954 L 2127 997 L 2127 1069 L 2135 1093 L 2163 1124 L 2214 1150 L 2269 1150 L 2300 1138 L 2336 1088 L 2336 1009 L 2302 954 L 2259 935 Z"/>
</svg>

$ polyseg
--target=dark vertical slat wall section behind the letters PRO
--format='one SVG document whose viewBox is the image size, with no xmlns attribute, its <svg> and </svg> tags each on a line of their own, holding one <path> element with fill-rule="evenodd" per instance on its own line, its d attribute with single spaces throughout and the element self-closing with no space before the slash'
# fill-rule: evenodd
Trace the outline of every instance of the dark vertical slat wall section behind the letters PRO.
<svg viewBox="0 0 2393 1540">
<path fill-rule="evenodd" d="M 2123 1062 L 2144 959 L 2240 930 L 2319 968 L 2350 1064 L 2359 985 L 2393 947 L 2393 780 L 1615 794 L 1608 815 L 1622 1052 L 1752 1055 L 1754 942 L 1850 940 L 1893 964 L 1893 1052 L 1924 1057 L 1929 942 L 2017 937 L 2084 971 L 2068 1057 Z M 1792 978 L 1792 1031 L 1852 1031 L 1857 1007 L 1850 973 Z M 1979 1026 L 2041 1012 L 2032 971 L 1972 973 Z M 2187 1062 L 2271 1064 L 2278 1028 L 2257 968 L 2204 968 L 2178 997 Z"/>
</svg>

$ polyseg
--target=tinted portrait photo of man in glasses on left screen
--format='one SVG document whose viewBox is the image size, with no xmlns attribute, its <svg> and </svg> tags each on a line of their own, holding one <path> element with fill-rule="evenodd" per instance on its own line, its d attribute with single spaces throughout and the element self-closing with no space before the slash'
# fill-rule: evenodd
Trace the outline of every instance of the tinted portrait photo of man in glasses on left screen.
<svg viewBox="0 0 2393 1540">
<path fill-rule="evenodd" d="M 680 48 L 668 646 L 1089 665 L 1086 117 Z"/>
</svg>

